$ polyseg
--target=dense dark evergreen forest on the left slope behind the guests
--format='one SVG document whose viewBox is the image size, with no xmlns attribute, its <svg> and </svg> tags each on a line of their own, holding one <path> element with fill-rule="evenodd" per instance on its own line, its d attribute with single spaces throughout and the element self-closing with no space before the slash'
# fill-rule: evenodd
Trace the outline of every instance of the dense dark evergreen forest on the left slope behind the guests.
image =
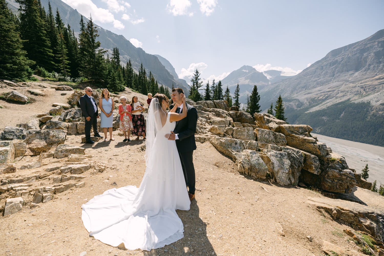
<svg viewBox="0 0 384 256">
<path fill-rule="evenodd" d="M 142 64 L 136 73 L 131 60 L 121 65 L 118 48 L 109 56 L 100 47 L 92 17 L 84 23 L 81 16 L 77 38 L 71 26 L 64 25 L 58 9 L 54 15 L 50 2 L 48 12 L 40 0 L 16 2 L 19 13 L 13 15 L 5 0 L 0 0 L 0 79 L 26 81 L 36 74 L 59 81 L 85 81 L 110 91 L 127 86 L 142 94 L 169 96 L 169 88 L 159 86 Z"/>
</svg>

